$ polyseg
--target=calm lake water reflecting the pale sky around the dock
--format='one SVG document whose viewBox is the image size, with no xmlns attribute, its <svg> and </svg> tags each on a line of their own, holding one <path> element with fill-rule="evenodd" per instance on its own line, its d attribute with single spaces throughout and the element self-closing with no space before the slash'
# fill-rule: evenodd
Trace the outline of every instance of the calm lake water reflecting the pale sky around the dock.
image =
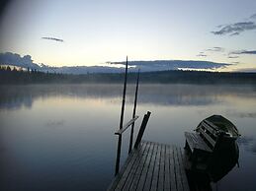
<svg viewBox="0 0 256 191">
<path fill-rule="evenodd" d="M 128 85 L 126 121 L 134 88 Z M 122 85 L 0 87 L 0 189 L 106 190 L 114 176 L 122 91 Z M 149 110 L 144 139 L 183 147 L 185 131 L 221 114 L 242 135 L 240 166 L 213 190 L 256 190 L 255 98 L 256 86 L 141 85 L 136 130 Z"/>
</svg>

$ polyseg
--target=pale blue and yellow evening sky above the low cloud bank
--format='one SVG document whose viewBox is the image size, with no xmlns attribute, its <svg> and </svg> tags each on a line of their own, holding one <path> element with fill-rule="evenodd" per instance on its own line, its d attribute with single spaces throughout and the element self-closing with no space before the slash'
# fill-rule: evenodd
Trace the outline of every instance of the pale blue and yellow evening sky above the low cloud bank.
<svg viewBox="0 0 256 191">
<path fill-rule="evenodd" d="M 205 60 L 256 71 L 255 0 L 13 0 L 0 52 L 49 66 Z"/>
</svg>

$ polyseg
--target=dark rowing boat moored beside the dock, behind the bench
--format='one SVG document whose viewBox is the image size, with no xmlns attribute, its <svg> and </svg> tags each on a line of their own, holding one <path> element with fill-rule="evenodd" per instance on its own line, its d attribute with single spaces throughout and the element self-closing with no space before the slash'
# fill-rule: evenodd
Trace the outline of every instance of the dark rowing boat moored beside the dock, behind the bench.
<svg viewBox="0 0 256 191">
<path fill-rule="evenodd" d="M 217 182 L 235 164 L 238 164 L 239 148 L 236 140 L 240 133 L 228 119 L 221 115 L 212 115 L 200 122 L 196 128 L 195 135 L 198 136 L 198 140 L 195 140 L 195 143 L 199 144 L 200 141 L 203 141 L 209 146 L 209 151 L 211 152 L 208 151 L 206 157 L 204 156 L 206 151 L 198 151 L 198 163 L 195 165 L 195 168 L 190 168 L 189 171 L 191 171 L 193 176 L 203 174 L 203 177 L 208 177 L 210 182 Z M 191 155 L 193 154 L 189 153 L 190 159 Z M 200 158 L 203 159 L 200 160 Z M 200 165 L 205 166 L 203 170 L 199 170 L 199 167 L 197 167 Z"/>
</svg>

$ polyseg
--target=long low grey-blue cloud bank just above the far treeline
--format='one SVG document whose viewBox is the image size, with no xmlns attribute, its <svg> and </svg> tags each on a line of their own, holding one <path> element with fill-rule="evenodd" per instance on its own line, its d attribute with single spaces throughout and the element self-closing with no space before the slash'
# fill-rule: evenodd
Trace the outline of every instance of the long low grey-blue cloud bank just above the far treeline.
<svg viewBox="0 0 256 191">
<path fill-rule="evenodd" d="M 23 68 L 37 69 L 43 72 L 56 72 L 64 74 L 87 74 L 87 73 L 119 73 L 124 72 L 123 67 L 116 67 L 116 64 L 124 65 L 126 62 L 107 62 L 106 66 L 62 66 L 50 67 L 44 64 L 34 63 L 30 55 L 20 56 L 11 52 L 0 53 L 0 65 L 13 65 Z M 153 61 L 129 61 L 130 72 L 164 71 L 179 69 L 218 69 L 229 66 L 227 63 L 215 63 L 210 61 L 196 60 L 153 60 Z"/>
</svg>

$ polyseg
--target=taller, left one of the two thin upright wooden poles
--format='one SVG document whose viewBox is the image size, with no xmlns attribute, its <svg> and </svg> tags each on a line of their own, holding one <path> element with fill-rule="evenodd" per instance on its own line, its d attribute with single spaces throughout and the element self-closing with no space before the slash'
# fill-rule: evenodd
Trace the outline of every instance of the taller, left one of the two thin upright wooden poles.
<svg viewBox="0 0 256 191">
<path fill-rule="evenodd" d="M 125 112 L 125 104 L 126 104 L 126 94 L 127 94 L 127 81 L 128 81 L 128 56 L 127 56 L 127 65 L 126 65 L 126 74 L 125 74 L 124 92 L 123 92 L 123 102 L 122 102 L 121 118 L 120 118 L 120 129 L 123 128 L 124 112 Z M 122 134 L 119 135 L 115 175 L 117 175 L 119 173 L 119 169 L 120 169 L 121 146 L 122 146 Z"/>
</svg>

